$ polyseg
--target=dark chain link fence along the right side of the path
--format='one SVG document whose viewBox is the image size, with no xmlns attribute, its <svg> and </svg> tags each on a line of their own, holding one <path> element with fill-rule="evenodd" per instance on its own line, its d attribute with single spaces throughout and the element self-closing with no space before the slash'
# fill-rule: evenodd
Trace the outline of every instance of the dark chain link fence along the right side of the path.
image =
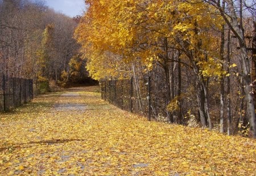
<svg viewBox="0 0 256 176">
<path fill-rule="evenodd" d="M 104 80 L 100 82 L 101 98 L 120 109 L 151 118 L 167 115 L 167 96 L 151 78 Z"/>
</svg>

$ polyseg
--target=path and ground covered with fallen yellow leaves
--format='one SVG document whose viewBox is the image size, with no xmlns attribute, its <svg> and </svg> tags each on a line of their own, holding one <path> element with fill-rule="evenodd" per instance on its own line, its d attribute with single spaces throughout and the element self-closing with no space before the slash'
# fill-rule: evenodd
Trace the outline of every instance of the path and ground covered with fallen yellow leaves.
<svg viewBox="0 0 256 176">
<path fill-rule="evenodd" d="M 255 175 L 255 140 L 148 122 L 97 89 L 1 113 L 0 175 Z"/>
</svg>

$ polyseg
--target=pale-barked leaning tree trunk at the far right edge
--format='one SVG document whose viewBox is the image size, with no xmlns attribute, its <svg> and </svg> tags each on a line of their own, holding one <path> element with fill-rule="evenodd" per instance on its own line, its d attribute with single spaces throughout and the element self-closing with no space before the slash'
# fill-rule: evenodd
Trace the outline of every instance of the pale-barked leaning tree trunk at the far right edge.
<svg viewBox="0 0 256 176">
<path fill-rule="evenodd" d="M 240 8 L 237 8 L 234 1 L 225 0 L 224 2 L 228 6 L 224 10 L 218 1 L 207 1 L 213 7 L 217 8 L 220 12 L 220 15 L 225 20 L 226 25 L 233 32 L 233 35 L 236 36 L 238 43 L 241 49 L 241 61 L 242 61 L 242 72 L 240 76 L 244 81 L 245 86 L 245 96 L 246 96 L 246 105 L 247 105 L 247 114 L 250 122 L 250 131 L 254 138 L 256 138 L 256 118 L 255 118 L 255 109 L 254 109 L 254 100 L 253 100 L 253 89 L 251 84 L 251 68 L 250 60 L 248 57 L 248 50 L 245 41 L 245 35 L 243 33 L 243 23 L 242 23 L 242 0 L 240 1 Z M 236 13 L 240 11 L 240 16 Z"/>
</svg>

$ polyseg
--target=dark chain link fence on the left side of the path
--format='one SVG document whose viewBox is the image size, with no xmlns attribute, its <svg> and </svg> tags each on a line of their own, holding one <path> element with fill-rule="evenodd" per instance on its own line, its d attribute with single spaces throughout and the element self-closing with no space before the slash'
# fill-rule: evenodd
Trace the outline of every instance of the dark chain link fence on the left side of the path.
<svg viewBox="0 0 256 176">
<path fill-rule="evenodd" d="M 33 81 L 23 78 L 0 78 L 0 111 L 7 111 L 32 100 Z"/>
</svg>

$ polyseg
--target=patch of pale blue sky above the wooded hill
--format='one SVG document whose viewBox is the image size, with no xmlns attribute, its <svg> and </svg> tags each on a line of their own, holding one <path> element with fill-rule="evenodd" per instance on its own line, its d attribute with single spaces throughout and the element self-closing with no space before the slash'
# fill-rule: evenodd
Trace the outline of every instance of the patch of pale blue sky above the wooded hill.
<svg viewBox="0 0 256 176">
<path fill-rule="evenodd" d="M 45 0 L 46 5 L 70 17 L 81 15 L 85 9 L 84 0 Z"/>
</svg>

